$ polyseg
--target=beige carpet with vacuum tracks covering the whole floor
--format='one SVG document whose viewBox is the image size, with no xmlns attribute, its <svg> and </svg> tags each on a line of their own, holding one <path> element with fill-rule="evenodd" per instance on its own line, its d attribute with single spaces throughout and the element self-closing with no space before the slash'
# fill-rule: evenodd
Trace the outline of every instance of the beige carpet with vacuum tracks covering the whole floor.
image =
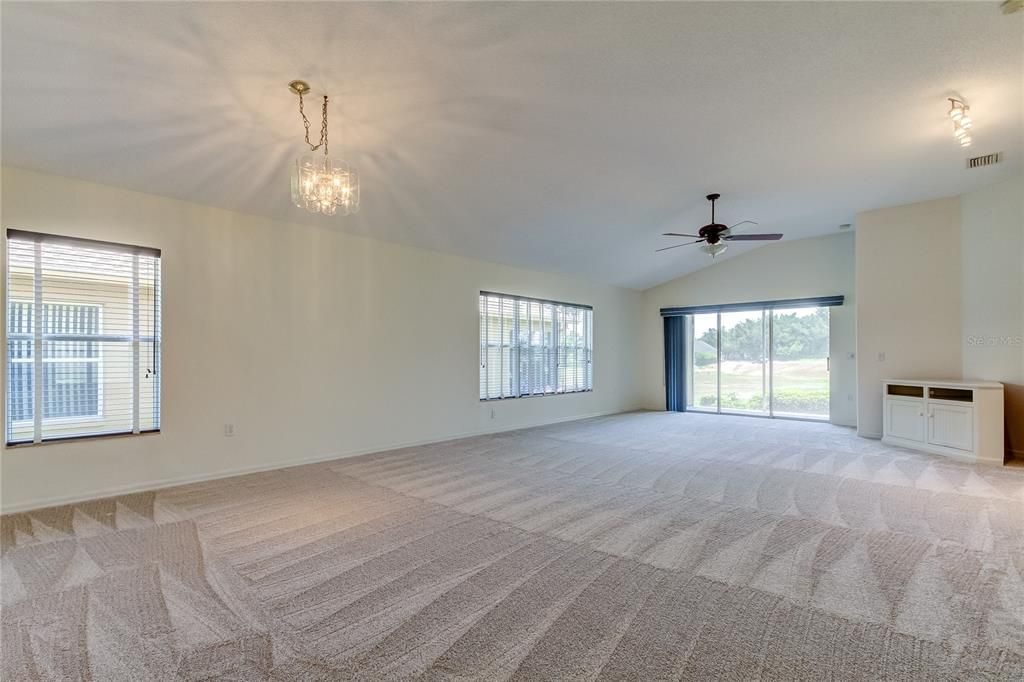
<svg viewBox="0 0 1024 682">
<path fill-rule="evenodd" d="M 623 415 L 0 527 L 4 680 L 1024 679 L 1024 471 L 821 424 Z"/>
</svg>

